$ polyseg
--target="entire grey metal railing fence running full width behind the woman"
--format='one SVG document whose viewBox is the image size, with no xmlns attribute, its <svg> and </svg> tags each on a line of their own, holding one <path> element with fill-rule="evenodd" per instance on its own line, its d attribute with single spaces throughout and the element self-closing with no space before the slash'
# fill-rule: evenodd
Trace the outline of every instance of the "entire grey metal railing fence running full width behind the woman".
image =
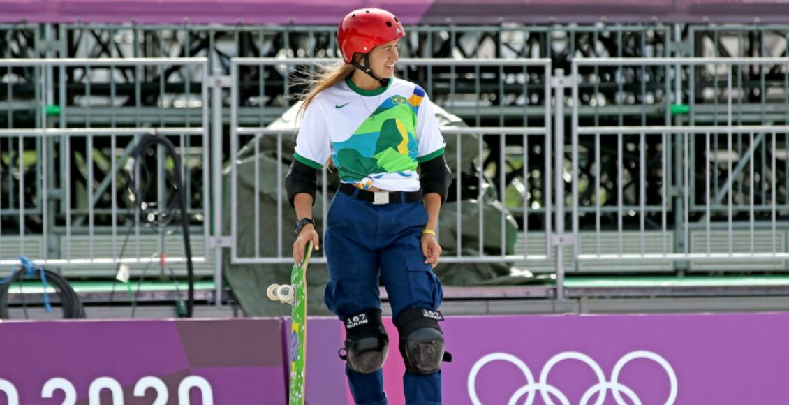
<svg viewBox="0 0 789 405">
<path fill-rule="evenodd" d="M 223 249 L 234 263 L 289 263 L 283 181 L 295 130 L 288 114 L 271 117 L 292 114 L 299 69 L 328 61 L 229 62 L 223 77 L 207 58 L 0 61 L 0 264 L 24 254 L 92 275 L 159 261 L 151 253 L 181 261 L 177 231 L 145 226 L 172 189 L 163 154 L 148 159 L 155 204 L 129 200 L 129 178 L 142 178 L 129 153 L 146 133 L 172 140 L 185 163 L 200 274 L 221 286 Z M 556 272 L 559 286 L 564 272 L 785 271 L 787 66 L 574 58 L 564 76 L 547 58 L 402 59 L 399 74 L 436 106 L 471 117 L 443 127 L 456 174 L 439 227 L 443 261 Z M 738 79 L 760 71 L 755 93 Z M 742 114 L 754 97 L 765 113 Z M 602 107 L 619 112 L 604 118 Z M 319 219 L 334 176 L 323 171 L 320 186 Z"/>
</svg>

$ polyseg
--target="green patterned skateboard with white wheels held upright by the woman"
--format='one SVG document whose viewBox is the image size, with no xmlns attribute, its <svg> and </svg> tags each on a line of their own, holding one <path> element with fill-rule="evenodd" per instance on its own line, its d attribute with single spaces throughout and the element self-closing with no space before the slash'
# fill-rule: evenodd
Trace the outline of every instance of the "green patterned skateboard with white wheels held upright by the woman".
<svg viewBox="0 0 789 405">
<path fill-rule="evenodd" d="M 290 308 L 290 405 L 305 404 L 305 369 L 307 366 L 307 278 L 305 272 L 312 255 L 312 242 L 305 247 L 304 263 L 294 264 L 290 284 L 271 284 L 266 295 L 271 301 L 289 304 Z"/>
</svg>

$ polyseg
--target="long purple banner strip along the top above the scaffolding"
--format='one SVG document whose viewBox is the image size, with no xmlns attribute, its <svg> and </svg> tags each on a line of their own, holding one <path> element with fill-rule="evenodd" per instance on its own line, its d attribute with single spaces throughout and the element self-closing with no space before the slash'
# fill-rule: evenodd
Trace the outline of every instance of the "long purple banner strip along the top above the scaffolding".
<svg viewBox="0 0 789 405">
<path fill-rule="evenodd" d="M 369 6 L 406 24 L 789 21 L 783 0 L 0 0 L 0 22 L 335 25 Z"/>
</svg>

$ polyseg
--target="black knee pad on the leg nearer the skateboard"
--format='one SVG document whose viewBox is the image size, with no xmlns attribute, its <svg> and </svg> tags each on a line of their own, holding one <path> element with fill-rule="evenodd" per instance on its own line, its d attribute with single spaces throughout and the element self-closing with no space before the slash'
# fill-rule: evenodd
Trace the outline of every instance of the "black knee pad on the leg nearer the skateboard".
<svg viewBox="0 0 789 405">
<path fill-rule="evenodd" d="M 389 354 L 389 335 L 381 322 L 381 310 L 367 309 L 346 317 L 342 323 L 346 341 L 338 354 L 348 362 L 348 368 L 360 374 L 380 370 Z"/>
</svg>

